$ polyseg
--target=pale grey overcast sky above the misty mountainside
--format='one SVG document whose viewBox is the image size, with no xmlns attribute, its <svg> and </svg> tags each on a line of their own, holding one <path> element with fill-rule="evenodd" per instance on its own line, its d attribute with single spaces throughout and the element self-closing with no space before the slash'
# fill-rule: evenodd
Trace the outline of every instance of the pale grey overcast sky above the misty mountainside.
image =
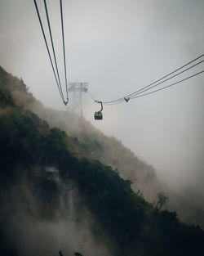
<svg viewBox="0 0 204 256">
<path fill-rule="evenodd" d="M 69 82 L 90 83 L 97 100 L 135 92 L 204 53 L 203 0 L 63 2 Z M 42 0 L 38 5 L 45 21 Z M 59 1 L 47 0 L 47 7 L 63 75 Z M 0 0 L 0 65 L 22 77 L 44 105 L 65 109 L 31 0 Z M 188 74 L 203 69 L 202 64 Z M 203 83 L 202 74 L 151 96 L 106 106 L 102 122 L 93 119 L 100 106 L 84 95 L 83 112 L 95 127 L 152 164 L 172 188 L 188 188 L 202 198 Z"/>
</svg>

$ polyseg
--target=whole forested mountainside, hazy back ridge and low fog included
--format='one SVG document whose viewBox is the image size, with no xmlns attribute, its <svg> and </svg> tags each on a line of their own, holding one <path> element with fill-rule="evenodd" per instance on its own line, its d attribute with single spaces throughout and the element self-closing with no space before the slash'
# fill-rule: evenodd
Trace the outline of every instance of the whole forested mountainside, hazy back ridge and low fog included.
<svg viewBox="0 0 204 256">
<path fill-rule="evenodd" d="M 51 122 L 27 91 L 0 68 L 2 255 L 203 254 L 200 227 L 145 200 L 161 186 L 151 166 L 72 114 Z"/>
</svg>

